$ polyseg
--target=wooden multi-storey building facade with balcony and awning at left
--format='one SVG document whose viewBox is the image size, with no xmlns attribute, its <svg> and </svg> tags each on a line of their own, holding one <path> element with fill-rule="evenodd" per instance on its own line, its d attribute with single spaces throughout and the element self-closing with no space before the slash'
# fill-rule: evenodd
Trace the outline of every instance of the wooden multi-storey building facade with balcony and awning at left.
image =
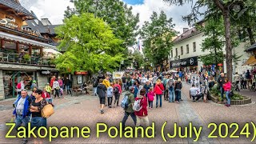
<svg viewBox="0 0 256 144">
<path fill-rule="evenodd" d="M 42 89 L 58 74 L 45 49 L 55 50 L 49 38 L 31 29 L 26 21 L 37 19 L 18 0 L 0 0 L 0 100 L 16 97 L 18 82 L 30 90 L 32 80 Z"/>
</svg>

